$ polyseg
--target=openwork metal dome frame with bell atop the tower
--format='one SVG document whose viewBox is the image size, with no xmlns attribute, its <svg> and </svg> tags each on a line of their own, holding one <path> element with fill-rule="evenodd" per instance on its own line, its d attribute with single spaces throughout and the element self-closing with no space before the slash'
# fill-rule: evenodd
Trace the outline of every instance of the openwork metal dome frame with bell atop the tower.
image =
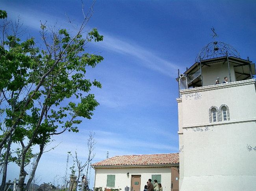
<svg viewBox="0 0 256 191">
<path fill-rule="evenodd" d="M 224 42 L 214 41 L 202 48 L 202 50 L 198 53 L 195 62 L 221 56 L 234 56 L 236 58 L 240 58 L 240 54 L 232 45 Z"/>
</svg>

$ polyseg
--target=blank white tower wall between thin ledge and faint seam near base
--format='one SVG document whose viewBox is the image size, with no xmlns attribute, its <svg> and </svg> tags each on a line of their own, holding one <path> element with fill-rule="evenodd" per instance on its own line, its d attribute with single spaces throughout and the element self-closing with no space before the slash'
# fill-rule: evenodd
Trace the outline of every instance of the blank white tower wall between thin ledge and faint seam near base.
<svg viewBox="0 0 256 191">
<path fill-rule="evenodd" d="M 255 122 L 220 124 L 209 127 L 208 131 L 194 130 L 184 131 L 185 176 L 243 175 L 256 178 L 256 151 L 247 149 L 247 144 L 256 146 Z"/>
</svg>

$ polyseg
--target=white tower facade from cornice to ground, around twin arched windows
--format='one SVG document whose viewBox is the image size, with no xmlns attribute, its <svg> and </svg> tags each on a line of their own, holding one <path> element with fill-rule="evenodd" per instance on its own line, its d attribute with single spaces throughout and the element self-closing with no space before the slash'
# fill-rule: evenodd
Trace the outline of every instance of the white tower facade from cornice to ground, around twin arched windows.
<svg viewBox="0 0 256 191">
<path fill-rule="evenodd" d="M 208 85 L 219 74 L 202 73 L 204 87 L 177 98 L 180 191 L 256 191 L 255 79 Z M 211 106 L 223 104 L 230 120 L 210 122 Z"/>
</svg>

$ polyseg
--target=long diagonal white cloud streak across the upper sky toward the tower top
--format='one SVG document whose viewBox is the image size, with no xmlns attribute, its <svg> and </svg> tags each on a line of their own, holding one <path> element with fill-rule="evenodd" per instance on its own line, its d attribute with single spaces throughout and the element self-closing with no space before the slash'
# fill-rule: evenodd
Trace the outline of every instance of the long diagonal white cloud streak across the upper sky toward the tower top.
<svg viewBox="0 0 256 191">
<path fill-rule="evenodd" d="M 72 29 L 72 25 L 67 22 L 67 17 L 63 18 L 58 15 L 48 15 L 46 13 L 34 11 L 32 9 L 20 10 L 15 7 L 6 8 L 11 12 L 8 18 L 15 20 L 17 19 L 17 16 L 20 15 L 22 20 L 24 20 L 24 25 L 28 28 L 40 30 L 41 20 L 43 23 L 47 21 L 48 25 L 56 24 L 61 28 L 65 27 L 74 30 Z M 79 23 L 74 21 L 74 25 L 79 26 Z M 89 26 L 87 26 L 87 29 L 88 28 Z M 171 77 L 176 76 L 178 66 L 158 56 L 157 50 L 146 49 L 145 47 L 138 45 L 136 42 L 132 42 L 131 39 L 124 39 L 120 37 L 118 38 L 113 35 L 108 35 L 106 31 L 100 31 L 100 34 L 104 35 L 104 41 L 97 43 L 97 46 L 108 49 L 109 51 L 114 51 L 116 53 L 133 56 L 133 58 L 138 59 L 138 64 L 141 64 L 153 71 L 158 71 L 163 75 Z"/>
</svg>

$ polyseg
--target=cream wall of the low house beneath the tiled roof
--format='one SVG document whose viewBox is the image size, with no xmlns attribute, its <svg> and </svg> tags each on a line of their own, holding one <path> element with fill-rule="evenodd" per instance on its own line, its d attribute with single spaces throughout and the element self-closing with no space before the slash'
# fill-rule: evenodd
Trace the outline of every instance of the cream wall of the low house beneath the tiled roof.
<svg viewBox="0 0 256 191">
<path fill-rule="evenodd" d="M 129 178 L 127 173 L 129 172 Z M 141 191 L 147 184 L 148 178 L 152 175 L 161 175 L 161 185 L 163 191 L 171 191 L 171 167 L 148 167 L 148 168 L 96 168 L 95 187 L 107 187 L 107 175 L 115 175 L 115 187 L 113 189 L 131 187 L 132 175 L 141 175 Z M 152 180 L 153 182 L 154 180 Z M 107 187 L 110 188 L 110 187 Z M 131 189 L 130 189 L 131 190 Z"/>
</svg>

